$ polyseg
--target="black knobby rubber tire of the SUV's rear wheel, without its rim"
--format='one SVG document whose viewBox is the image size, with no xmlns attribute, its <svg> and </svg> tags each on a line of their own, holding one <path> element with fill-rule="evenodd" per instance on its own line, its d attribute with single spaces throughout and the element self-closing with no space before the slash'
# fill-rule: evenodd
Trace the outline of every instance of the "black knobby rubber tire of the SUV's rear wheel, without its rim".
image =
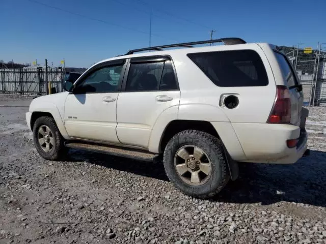
<svg viewBox="0 0 326 244">
<path fill-rule="evenodd" d="M 211 173 L 203 185 L 194 186 L 181 179 L 176 171 L 174 158 L 179 148 L 194 145 L 201 148 L 211 162 Z M 193 197 L 210 198 L 228 183 L 230 174 L 221 141 L 205 132 L 186 130 L 179 132 L 168 142 L 164 150 L 164 168 L 170 181 L 183 193 Z"/>
</svg>

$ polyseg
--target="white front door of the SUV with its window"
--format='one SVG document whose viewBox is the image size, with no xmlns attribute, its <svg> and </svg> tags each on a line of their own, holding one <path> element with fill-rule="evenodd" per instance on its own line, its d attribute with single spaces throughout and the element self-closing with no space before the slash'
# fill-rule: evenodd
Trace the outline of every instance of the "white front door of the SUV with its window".
<svg viewBox="0 0 326 244">
<path fill-rule="evenodd" d="M 125 60 L 101 63 L 76 81 L 64 113 L 71 138 L 120 143 L 116 108 L 124 70 Z"/>
</svg>

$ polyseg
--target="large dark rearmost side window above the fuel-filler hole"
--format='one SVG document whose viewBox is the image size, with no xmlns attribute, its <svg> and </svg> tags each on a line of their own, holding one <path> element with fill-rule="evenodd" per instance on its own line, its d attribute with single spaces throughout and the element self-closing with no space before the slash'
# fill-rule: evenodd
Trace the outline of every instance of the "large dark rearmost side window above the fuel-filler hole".
<svg viewBox="0 0 326 244">
<path fill-rule="evenodd" d="M 199 52 L 189 58 L 218 86 L 268 85 L 264 64 L 253 50 Z"/>
</svg>

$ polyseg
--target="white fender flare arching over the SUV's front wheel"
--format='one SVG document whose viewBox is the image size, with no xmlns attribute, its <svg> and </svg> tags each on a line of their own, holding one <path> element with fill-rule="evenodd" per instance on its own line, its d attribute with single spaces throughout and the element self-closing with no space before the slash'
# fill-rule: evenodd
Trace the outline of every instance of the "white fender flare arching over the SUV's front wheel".
<svg viewBox="0 0 326 244">
<path fill-rule="evenodd" d="M 63 136 L 63 138 L 65 138 L 67 140 L 70 139 L 70 137 L 68 136 L 68 133 L 66 131 L 66 128 L 65 128 L 65 125 L 63 122 L 63 118 L 62 118 L 56 104 L 48 102 L 48 101 L 37 102 L 37 100 L 33 100 L 30 105 L 29 112 L 50 113 L 53 116 L 53 118 L 55 119 L 58 129 L 59 129 L 61 135 Z"/>
</svg>

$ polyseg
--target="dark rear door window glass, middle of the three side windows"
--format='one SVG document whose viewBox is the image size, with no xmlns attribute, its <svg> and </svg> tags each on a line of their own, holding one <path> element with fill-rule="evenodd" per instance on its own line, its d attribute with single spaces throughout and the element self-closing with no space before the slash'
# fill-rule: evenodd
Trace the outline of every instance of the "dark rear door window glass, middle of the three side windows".
<svg viewBox="0 0 326 244">
<path fill-rule="evenodd" d="M 159 89 L 177 89 L 176 79 L 170 60 L 165 62 L 130 64 L 127 78 L 127 91 L 134 92 Z"/>
</svg>

